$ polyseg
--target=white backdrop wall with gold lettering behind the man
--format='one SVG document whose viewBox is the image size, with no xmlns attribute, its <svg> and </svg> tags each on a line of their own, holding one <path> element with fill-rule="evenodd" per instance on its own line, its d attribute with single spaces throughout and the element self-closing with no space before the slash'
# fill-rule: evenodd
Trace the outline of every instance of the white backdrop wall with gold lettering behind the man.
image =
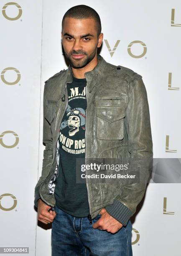
<svg viewBox="0 0 181 256">
<path fill-rule="evenodd" d="M 30 256 L 50 256 L 51 226 L 37 225 L 33 200 L 44 149 L 44 81 L 66 69 L 61 49 L 64 13 L 78 4 L 99 13 L 104 33 L 100 54 L 143 77 L 154 158 L 181 158 L 181 2 L 8 3 L 0 0 L 0 247 L 25 246 Z M 133 255 L 180 256 L 181 184 L 149 184 L 141 205 L 131 218 Z"/>
</svg>

